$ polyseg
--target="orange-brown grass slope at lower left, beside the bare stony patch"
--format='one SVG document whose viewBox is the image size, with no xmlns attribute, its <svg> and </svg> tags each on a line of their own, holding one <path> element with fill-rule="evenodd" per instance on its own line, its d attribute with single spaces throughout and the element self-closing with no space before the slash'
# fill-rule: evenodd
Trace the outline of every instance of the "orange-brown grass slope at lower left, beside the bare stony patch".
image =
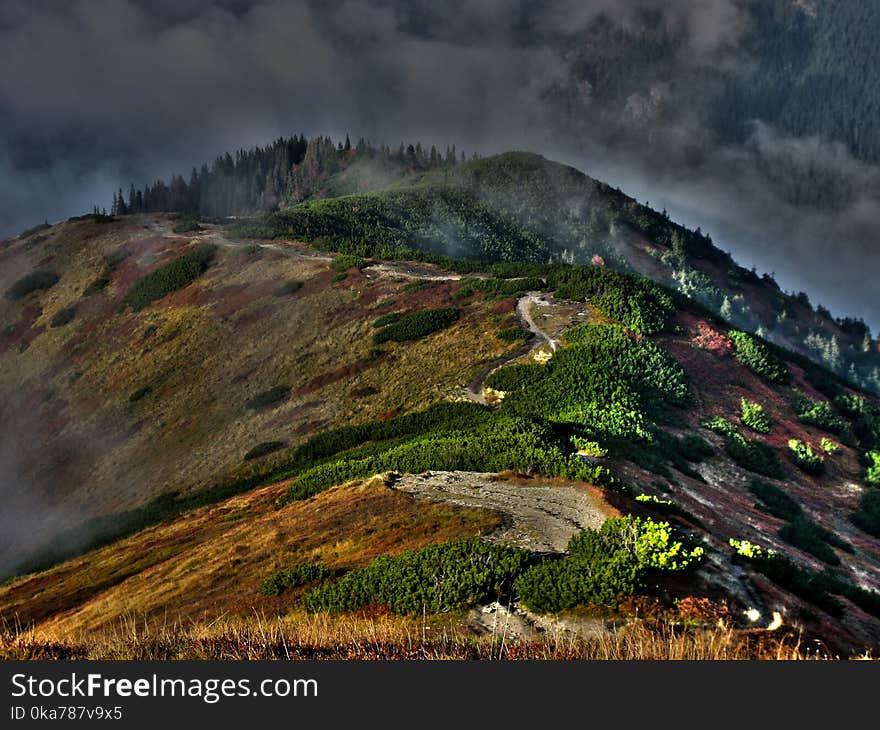
<svg viewBox="0 0 880 730">
<path fill-rule="evenodd" d="M 417 501 L 380 478 L 335 487 L 276 510 L 281 483 L 204 507 L 49 571 L 0 588 L 0 617 L 57 636 L 135 613 L 150 622 L 283 613 L 296 593 L 268 598 L 265 578 L 293 562 L 332 568 L 494 530 L 485 510 Z"/>
</svg>

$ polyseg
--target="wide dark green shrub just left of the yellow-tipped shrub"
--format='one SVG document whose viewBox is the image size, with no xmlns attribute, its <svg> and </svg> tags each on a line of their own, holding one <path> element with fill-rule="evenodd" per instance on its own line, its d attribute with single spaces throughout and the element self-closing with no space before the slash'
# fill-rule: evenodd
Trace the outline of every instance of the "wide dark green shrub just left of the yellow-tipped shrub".
<svg viewBox="0 0 880 730">
<path fill-rule="evenodd" d="M 397 614 L 442 613 L 509 594 L 533 560 L 525 550 L 478 539 L 430 545 L 399 557 L 384 555 L 318 586 L 306 594 L 305 607 L 339 613 L 381 604 Z"/>
</svg>

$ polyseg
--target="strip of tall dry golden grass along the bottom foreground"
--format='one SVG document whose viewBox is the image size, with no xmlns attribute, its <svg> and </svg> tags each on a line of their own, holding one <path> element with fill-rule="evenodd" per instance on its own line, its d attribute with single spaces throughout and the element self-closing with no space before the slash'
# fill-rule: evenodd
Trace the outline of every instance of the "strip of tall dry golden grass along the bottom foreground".
<svg viewBox="0 0 880 730">
<path fill-rule="evenodd" d="M 805 646 L 797 633 L 685 628 L 634 621 L 591 638 L 537 641 L 478 637 L 435 619 L 393 615 L 221 618 L 210 623 L 159 624 L 122 617 L 100 632 L 59 636 L 6 626 L 0 659 L 480 659 L 480 660 L 835 660 Z"/>
</svg>

